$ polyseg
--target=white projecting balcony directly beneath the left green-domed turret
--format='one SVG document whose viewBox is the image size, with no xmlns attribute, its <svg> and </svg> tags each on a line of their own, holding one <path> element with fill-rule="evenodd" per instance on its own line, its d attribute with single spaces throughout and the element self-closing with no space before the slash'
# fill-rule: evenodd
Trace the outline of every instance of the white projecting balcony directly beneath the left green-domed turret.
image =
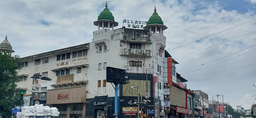
<svg viewBox="0 0 256 118">
<path fill-rule="evenodd" d="M 112 30 L 108 30 L 108 29 L 93 31 L 93 43 L 100 44 L 100 43 L 104 43 L 105 41 L 109 42 L 111 33 L 112 33 Z"/>
</svg>

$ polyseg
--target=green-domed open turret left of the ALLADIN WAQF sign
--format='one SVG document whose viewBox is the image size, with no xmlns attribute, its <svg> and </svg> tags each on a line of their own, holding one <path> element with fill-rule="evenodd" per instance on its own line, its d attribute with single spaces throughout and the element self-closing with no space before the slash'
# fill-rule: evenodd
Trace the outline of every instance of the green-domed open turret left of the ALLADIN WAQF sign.
<svg viewBox="0 0 256 118">
<path fill-rule="evenodd" d="M 112 13 L 108 9 L 108 4 L 106 2 L 106 8 L 100 13 L 98 16 L 98 20 L 93 22 L 95 26 L 98 26 L 98 30 L 100 30 L 100 27 L 102 29 L 108 28 L 108 30 L 111 28 L 111 30 L 114 30 L 115 26 L 118 26 L 118 22 L 115 22 L 115 19 L 112 15 Z"/>
</svg>

